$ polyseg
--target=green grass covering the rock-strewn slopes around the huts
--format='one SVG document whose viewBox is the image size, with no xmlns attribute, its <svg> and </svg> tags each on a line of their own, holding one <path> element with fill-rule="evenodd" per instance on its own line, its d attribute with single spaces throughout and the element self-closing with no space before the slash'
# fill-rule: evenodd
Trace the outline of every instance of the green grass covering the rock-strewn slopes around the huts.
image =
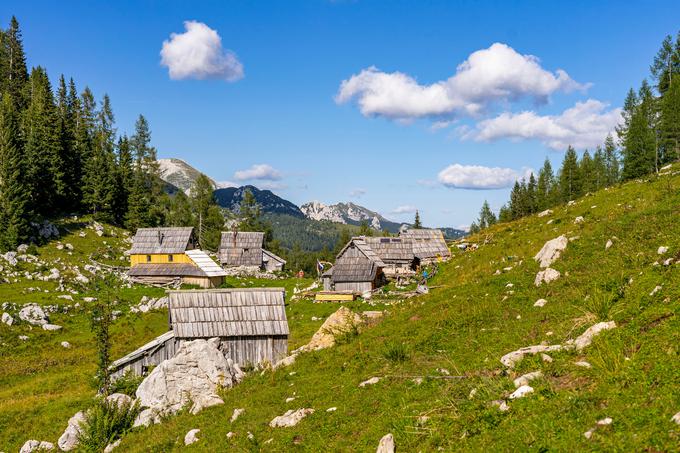
<svg viewBox="0 0 680 453">
<path fill-rule="evenodd" d="M 224 391 L 222 406 L 130 433 L 117 451 L 374 451 L 388 432 L 400 451 L 675 450 L 680 265 L 663 261 L 680 260 L 679 211 L 680 176 L 665 175 L 587 196 L 547 217 L 497 225 L 468 238 L 477 250 L 454 250 L 431 294 L 377 308 L 354 302 L 353 309 L 386 309 L 387 315 L 332 349 L 303 354 L 289 368 L 249 375 Z M 575 224 L 577 216 L 585 221 Z M 571 238 L 552 265 L 562 277 L 535 287 L 539 267 L 532 257 L 561 234 Z M 668 252 L 658 255 L 659 246 Z M 4 296 L 8 285 L 0 291 L 10 297 Z M 154 290 L 121 291 L 134 301 Z M 20 293 L 11 297 L 34 300 Z M 54 303 L 49 297 L 39 301 Z M 548 301 L 542 308 L 534 307 L 539 298 Z M 289 301 L 291 349 L 321 324 L 312 316 L 337 307 Z M 86 320 L 84 311 L 58 317 L 64 329 L 56 333 L 0 325 L 0 450 L 16 450 L 29 438 L 56 441 L 87 404 L 94 351 Z M 550 353 L 552 362 L 528 357 L 514 370 L 499 361 L 520 347 L 564 343 L 610 320 L 618 327 L 580 353 Z M 122 316 L 115 351 L 161 333 L 164 322 L 164 313 Z M 20 342 L 21 334 L 31 340 Z M 74 347 L 59 347 L 63 340 Z M 592 367 L 574 365 L 578 361 Z M 513 378 L 536 370 L 544 378 L 531 383 L 533 394 L 510 401 L 507 412 L 491 404 L 514 390 Z M 382 379 L 358 387 L 372 376 Z M 292 428 L 268 426 L 287 409 L 303 407 L 316 412 Z M 330 407 L 337 410 L 327 412 Z M 245 413 L 232 424 L 234 408 Z M 583 433 L 605 417 L 613 423 L 587 439 Z M 201 430 L 200 440 L 184 447 L 192 428 Z M 230 431 L 236 435 L 228 439 Z"/>
</svg>

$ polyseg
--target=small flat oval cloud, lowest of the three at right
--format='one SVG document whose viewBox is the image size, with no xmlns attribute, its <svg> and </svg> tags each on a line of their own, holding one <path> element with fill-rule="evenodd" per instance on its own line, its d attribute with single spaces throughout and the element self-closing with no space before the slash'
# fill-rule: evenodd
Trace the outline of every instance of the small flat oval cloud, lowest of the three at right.
<svg viewBox="0 0 680 453">
<path fill-rule="evenodd" d="M 449 165 L 439 172 L 438 181 L 452 189 L 503 189 L 524 176 L 511 168 L 481 165 Z"/>
</svg>

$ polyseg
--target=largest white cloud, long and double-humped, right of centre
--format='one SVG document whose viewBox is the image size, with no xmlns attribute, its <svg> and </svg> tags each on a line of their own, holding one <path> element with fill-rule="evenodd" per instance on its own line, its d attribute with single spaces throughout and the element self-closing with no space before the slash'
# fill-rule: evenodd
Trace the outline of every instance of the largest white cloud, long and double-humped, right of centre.
<svg viewBox="0 0 680 453">
<path fill-rule="evenodd" d="M 533 55 L 495 43 L 473 52 L 447 80 L 430 85 L 402 72 L 386 73 L 371 66 L 343 80 L 335 101 L 355 100 L 364 116 L 396 120 L 477 117 L 494 102 L 530 98 L 543 103 L 556 91 L 587 87 L 561 69 L 543 69 Z"/>
</svg>

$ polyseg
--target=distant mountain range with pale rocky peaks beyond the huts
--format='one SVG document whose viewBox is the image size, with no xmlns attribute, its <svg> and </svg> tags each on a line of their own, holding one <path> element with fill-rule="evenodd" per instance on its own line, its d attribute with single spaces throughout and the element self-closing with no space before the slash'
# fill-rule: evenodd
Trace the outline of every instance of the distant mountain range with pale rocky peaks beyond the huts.
<svg viewBox="0 0 680 453">
<path fill-rule="evenodd" d="M 182 159 L 158 159 L 158 163 L 161 179 L 169 186 L 167 190 L 170 192 L 182 190 L 188 193 L 196 178 L 201 175 L 200 171 Z M 235 213 L 239 211 L 243 194 L 246 190 L 249 190 L 265 214 L 289 215 L 298 219 L 329 221 L 355 226 L 367 222 L 369 226 L 378 231 L 387 230 L 390 233 L 397 233 L 401 228 L 409 226 L 407 223 L 388 220 L 379 213 L 352 202 L 326 205 L 320 201 L 311 201 L 298 207 L 295 203 L 279 197 L 270 190 L 260 190 L 252 185 L 224 187 L 215 182 L 214 179 L 209 179 L 215 187 L 217 203 Z M 450 239 L 467 234 L 465 231 L 456 228 L 444 227 L 441 230 Z"/>
</svg>

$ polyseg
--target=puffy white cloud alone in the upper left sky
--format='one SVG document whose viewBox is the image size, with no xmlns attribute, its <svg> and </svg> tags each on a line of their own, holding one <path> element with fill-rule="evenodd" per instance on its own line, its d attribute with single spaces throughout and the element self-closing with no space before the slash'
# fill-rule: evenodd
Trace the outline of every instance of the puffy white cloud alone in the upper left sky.
<svg viewBox="0 0 680 453">
<path fill-rule="evenodd" d="M 184 33 L 171 33 L 163 41 L 161 65 L 170 78 L 220 79 L 235 82 L 243 78 L 243 65 L 231 50 L 222 48 L 217 31 L 202 22 L 184 22 Z"/>
</svg>

